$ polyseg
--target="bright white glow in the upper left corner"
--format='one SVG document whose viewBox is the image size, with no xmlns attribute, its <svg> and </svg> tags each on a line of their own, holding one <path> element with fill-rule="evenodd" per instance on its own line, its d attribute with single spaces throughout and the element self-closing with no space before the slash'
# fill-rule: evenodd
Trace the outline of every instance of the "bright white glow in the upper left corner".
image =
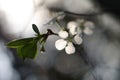
<svg viewBox="0 0 120 80">
<path fill-rule="evenodd" d="M 18 33 L 29 23 L 34 4 L 33 0 L 0 0 L 0 10 L 5 14 L 8 31 Z"/>
</svg>

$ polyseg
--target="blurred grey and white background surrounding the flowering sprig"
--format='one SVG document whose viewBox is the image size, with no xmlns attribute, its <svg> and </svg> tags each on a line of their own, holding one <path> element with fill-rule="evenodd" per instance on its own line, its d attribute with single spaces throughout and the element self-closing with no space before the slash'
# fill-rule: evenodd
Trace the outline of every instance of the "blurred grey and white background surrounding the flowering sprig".
<svg viewBox="0 0 120 80">
<path fill-rule="evenodd" d="M 41 33 L 58 32 L 55 24 L 43 26 L 58 11 L 70 13 L 63 23 L 81 18 L 95 23 L 94 34 L 83 37 L 75 54 L 57 51 L 55 36 L 34 60 L 23 61 L 6 47 L 8 41 L 34 36 L 32 24 Z M 100 14 L 79 16 L 94 13 Z M 120 80 L 119 14 L 118 0 L 0 0 L 0 80 Z"/>
</svg>

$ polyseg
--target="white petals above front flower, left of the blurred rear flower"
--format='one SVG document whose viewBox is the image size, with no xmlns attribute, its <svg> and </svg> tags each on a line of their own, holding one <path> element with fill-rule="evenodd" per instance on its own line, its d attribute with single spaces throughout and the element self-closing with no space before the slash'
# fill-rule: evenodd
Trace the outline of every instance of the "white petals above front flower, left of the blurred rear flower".
<svg viewBox="0 0 120 80">
<path fill-rule="evenodd" d="M 72 35 L 76 35 L 76 34 L 80 34 L 81 33 L 81 29 L 79 28 L 79 25 L 75 21 L 70 21 L 67 24 L 67 28 L 69 29 L 69 32 Z"/>
</svg>

